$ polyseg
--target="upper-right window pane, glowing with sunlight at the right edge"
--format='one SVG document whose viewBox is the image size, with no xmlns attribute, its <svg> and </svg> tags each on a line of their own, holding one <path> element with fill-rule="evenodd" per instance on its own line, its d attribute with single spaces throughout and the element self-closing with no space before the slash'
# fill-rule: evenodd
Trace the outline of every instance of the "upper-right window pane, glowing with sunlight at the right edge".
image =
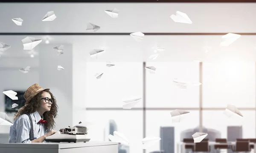
<svg viewBox="0 0 256 153">
<path fill-rule="evenodd" d="M 255 107 L 255 62 L 204 62 L 203 107 Z"/>
</svg>

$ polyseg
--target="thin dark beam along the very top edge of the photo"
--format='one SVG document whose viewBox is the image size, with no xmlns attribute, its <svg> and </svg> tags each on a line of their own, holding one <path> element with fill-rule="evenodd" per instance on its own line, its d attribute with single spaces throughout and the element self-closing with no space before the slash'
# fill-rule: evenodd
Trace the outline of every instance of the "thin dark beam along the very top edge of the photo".
<svg viewBox="0 0 256 153">
<path fill-rule="evenodd" d="M 256 3 L 256 0 L 0 0 L 0 3 Z"/>
</svg>

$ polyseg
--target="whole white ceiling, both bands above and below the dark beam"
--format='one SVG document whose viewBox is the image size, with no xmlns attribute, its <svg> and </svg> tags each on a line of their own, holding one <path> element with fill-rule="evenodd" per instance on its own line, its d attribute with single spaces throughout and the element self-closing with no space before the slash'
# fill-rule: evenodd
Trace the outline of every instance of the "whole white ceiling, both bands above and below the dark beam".
<svg viewBox="0 0 256 153">
<path fill-rule="evenodd" d="M 119 9 L 119 17 L 111 18 L 106 9 Z M 100 26 L 95 33 L 127 33 L 127 35 L 65 35 L 45 36 L 50 44 L 73 44 L 74 51 L 84 54 L 87 61 L 89 51 L 105 48 L 106 54 L 99 60 L 148 61 L 154 54 L 152 47 L 166 48 L 154 61 L 203 60 L 255 61 L 255 36 L 242 35 L 228 47 L 221 47 L 221 35 L 145 35 L 143 42 L 135 41 L 129 33 L 256 33 L 256 3 L 2 3 L 0 5 L 0 33 L 92 33 L 87 23 Z M 54 21 L 43 22 L 48 11 L 54 11 Z M 192 24 L 175 23 L 170 15 L 176 11 L 186 13 Z M 17 26 L 12 18 L 22 18 Z M 21 40 L 29 35 L 2 35 L 0 41 L 11 45 L 2 57 L 29 57 L 23 50 Z M 44 43 L 44 41 L 42 43 Z M 49 44 L 49 45 L 50 45 Z M 37 46 L 39 47 L 40 44 Z M 35 47 L 34 51 L 37 51 Z M 55 47 L 55 46 L 53 46 Z M 205 50 L 208 48 L 208 53 Z M 109 53 L 109 54 L 107 54 Z"/>
</svg>

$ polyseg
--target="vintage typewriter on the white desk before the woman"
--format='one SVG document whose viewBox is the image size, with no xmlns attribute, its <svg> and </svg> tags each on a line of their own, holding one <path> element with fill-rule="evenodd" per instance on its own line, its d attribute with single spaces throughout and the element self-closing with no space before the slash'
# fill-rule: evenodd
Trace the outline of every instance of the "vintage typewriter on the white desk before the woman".
<svg viewBox="0 0 256 153">
<path fill-rule="evenodd" d="M 81 124 L 74 127 L 61 128 L 58 132 L 51 136 L 47 136 L 47 142 L 88 142 L 90 138 L 87 135 L 87 125 Z"/>
</svg>

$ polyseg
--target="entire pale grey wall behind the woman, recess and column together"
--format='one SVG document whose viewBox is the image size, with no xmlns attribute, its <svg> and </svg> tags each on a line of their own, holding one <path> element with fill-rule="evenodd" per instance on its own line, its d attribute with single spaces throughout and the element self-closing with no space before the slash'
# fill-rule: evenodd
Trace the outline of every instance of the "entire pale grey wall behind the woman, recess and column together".
<svg viewBox="0 0 256 153">
<path fill-rule="evenodd" d="M 72 125 L 72 45 L 64 44 L 64 54 L 57 56 L 52 48 L 60 44 L 38 45 L 39 57 L 1 57 L 0 91 L 26 90 L 38 83 L 43 88 L 50 88 L 59 106 L 56 129 Z M 16 51 L 10 48 L 9 51 Z M 40 65 L 40 66 L 39 66 Z M 57 65 L 65 69 L 57 70 Z M 31 66 L 29 73 L 23 74 L 20 68 Z M 4 112 L 4 94 L 0 94 L 0 111 Z M 13 119 L 14 114 L 8 114 Z M 9 133 L 9 127 L 0 127 L 0 133 Z"/>
</svg>

